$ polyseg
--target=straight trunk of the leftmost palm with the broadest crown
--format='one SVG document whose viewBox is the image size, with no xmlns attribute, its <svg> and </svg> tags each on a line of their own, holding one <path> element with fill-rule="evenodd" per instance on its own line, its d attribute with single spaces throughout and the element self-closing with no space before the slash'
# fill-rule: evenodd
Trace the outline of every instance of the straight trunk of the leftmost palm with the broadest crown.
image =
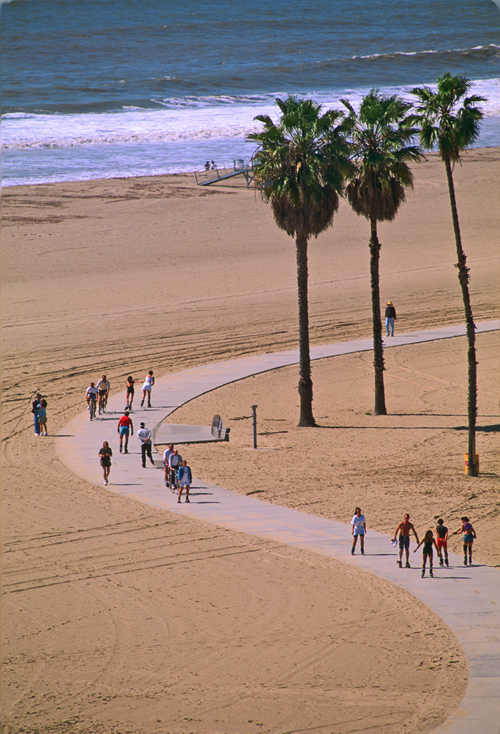
<svg viewBox="0 0 500 734">
<path fill-rule="evenodd" d="M 297 294 L 299 299 L 299 426 L 315 426 L 312 412 L 311 356 L 309 354 L 309 306 L 307 297 L 307 237 L 297 234 Z"/>
</svg>

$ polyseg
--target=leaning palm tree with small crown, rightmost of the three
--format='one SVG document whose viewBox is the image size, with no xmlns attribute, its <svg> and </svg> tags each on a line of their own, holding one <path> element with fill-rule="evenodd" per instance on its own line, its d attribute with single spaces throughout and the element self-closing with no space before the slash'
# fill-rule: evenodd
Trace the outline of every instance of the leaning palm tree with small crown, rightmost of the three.
<svg viewBox="0 0 500 734">
<path fill-rule="evenodd" d="M 468 344 L 468 452 L 467 474 L 477 476 L 476 455 L 476 418 L 477 418 L 477 362 L 476 335 L 474 318 L 469 294 L 469 268 L 462 247 L 460 225 L 458 222 L 453 168 L 460 161 L 460 153 L 468 148 L 479 135 L 479 123 L 483 113 L 477 104 L 484 102 L 478 95 L 466 96 L 472 86 L 464 76 L 444 74 L 438 77 L 437 90 L 418 87 L 412 90 L 418 98 L 414 122 L 420 126 L 420 142 L 424 148 L 437 148 L 446 169 L 448 192 L 450 194 L 451 218 L 455 233 L 457 250 L 458 280 L 462 289 Z"/>
</svg>

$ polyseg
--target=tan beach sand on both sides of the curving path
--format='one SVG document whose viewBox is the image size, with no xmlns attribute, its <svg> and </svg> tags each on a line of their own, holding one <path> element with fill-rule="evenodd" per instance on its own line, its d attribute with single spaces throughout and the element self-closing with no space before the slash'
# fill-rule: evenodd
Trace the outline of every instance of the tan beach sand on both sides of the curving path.
<svg viewBox="0 0 500 734">
<path fill-rule="evenodd" d="M 471 151 L 455 172 L 476 321 L 498 316 L 499 157 Z M 313 344 L 370 336 L 368 237 L 343 203 L 311 241 Z M 435 157 L 416 169 L 415 191 L 380 239 L 397 330 L 462 323 Z M 443 721 L 467 665 L 411 595 L 362 569 L 119 497 L 56 457 L 55 434 L 103 372 L 112 393 L 124 392 L 128 374 L 150 368 L 297 346 L 294 243 L 259 196 L 199 188 L 191 176 L 6 189 L 2 253 L 9 731 L 410 734 Z M 454 527 L 467 512 L 476 559 L 497 564 L 497 334 L 478 337 L 478 357 L 477 479 L 463 474 L 464 339 L 386 351 L 388 416 L 370 414 L 365 354 L 313 365 L 321 428 L 296 428 L 296 368 L 222 388 L 172 420 L 209 422 L 216 408 L 231 427 L 228 445 L 186 450 L 196 476 L 246 493 L 252 473 L 263 499 L 345 522 L 360 504 L 369 527 L 386 532 L 406 511 L 419 530 L 440 513 Z M 38 389 L 48 438 L 33 435 Z"/>
</svg>

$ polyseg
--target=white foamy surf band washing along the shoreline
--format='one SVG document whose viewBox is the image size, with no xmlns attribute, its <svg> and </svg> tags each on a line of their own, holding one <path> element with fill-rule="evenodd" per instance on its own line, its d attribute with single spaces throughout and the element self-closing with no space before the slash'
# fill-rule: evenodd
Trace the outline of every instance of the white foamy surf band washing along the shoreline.
<svg viewBox="0 0 500 734">
<path fill-rule="evenodd" d="M 473 92 L 487 99 L 479 145 L 500 144 L 498 80 L 474 82 Z M 356 107 L 367 89 L 305 91 L 324 109 L 340 107 L 348 97 Z M 410 98 L 409 87 L 383 89 Z M 276 97 L 202 97 L 163 100 L 164 107 L 88 114 L 9 113 L 3 120 L 3 183 L 7 186 L 55 181 L 122 178 L 200 170 L 206 160 L 219 165 L 250 157 L 255 145 L 247 135 L 260 128 L 257 114 L 277 119 Z"/>
</svg>

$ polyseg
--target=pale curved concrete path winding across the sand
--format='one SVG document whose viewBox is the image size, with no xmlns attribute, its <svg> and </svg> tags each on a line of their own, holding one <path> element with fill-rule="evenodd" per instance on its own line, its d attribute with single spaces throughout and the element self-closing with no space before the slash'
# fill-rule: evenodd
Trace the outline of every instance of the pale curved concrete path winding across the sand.
<svg viewBox="0 0 500 734">
<path fill-rule="evenodd" d="M 498 321 L 477 325 L 478 332 L 499 329 Z M 445 327 L 413 332 L 387 340 L 386 348 L 463 336 L 464 327 Z M 312 359 L 369 351 L 371 339 L 311 349 Z M 133 412 L 134 428 L 144 421 L 155 428 L 163 418 L 193 398 L 229 382 L 298 362 L 297 350 L 218 362 L 177 372 L 156 380 L 153 407 Z M 140 403 L 140 392 L 136 403 Z M 469 684 L 458 710 L 435 734 L 500 733 L 500 573 L 488 566 L 464 567 L 462 558 L 450 556 L 450 568 L 438 568 L 434 579 L 420 577 L 419 561 L 414 569 L 399 569 L 389 538 L 373 530 L 367 536 L 364 557 L 351 556 L 350 527 L 314 515 L 235 494 L 198 480 L 193 481 L 191 503 L 177 503 L 164 487 L 161 458 L 156 467 L 143 469 L 139 441 L 131 438 L 128 455 L 118 453 L 117 420 L 125 397 L 110 398 L 103 418 L 90 422 L 84 412 L 66 425 L 57 443 L 59 458 L 72 471 L 90 482 L 101 484 L 97 452 L 103 440 L 113 451 L 108 488 L 169 512 L 182 513 L 233 530 L 251 533 L 336 558 L 363 568 L 410 591 L 437 612 L 452 628 L 469 663 Z M 159 471 L 161 470 L 161 471 Z M 416 557 L 415 557 L 416 558 Z"/>
</svg>

